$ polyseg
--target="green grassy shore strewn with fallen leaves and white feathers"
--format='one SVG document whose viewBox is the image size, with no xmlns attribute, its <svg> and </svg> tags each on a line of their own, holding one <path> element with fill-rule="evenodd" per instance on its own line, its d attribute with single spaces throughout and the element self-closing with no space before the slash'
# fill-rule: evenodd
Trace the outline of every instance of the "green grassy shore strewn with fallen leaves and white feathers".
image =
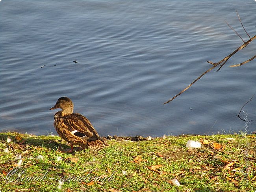
<svg viewBox="0 0 256 192">
<path fill-rule="evenodd" d="M 188 140 L 200 141 L 202 148 L 186 148 Z M 0 133 L 0 141 L 1 192 L 256 190 L 252 135 L 113 139 L 98 153 L 85 149 L 74 154 L 61 152 L 70 146 L 53 135 Z"/>
</svg>

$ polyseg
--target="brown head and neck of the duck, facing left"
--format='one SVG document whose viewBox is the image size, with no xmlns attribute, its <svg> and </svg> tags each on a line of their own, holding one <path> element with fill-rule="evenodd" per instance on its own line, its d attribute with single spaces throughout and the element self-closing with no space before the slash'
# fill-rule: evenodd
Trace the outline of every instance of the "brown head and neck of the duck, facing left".
<svg viewBox="0 0 256 192">
<path fill-rule="evenodd" d="M 68 97 L 61 97 L 50 110 L 57 108 L 62 109 L 62 115 L 71 114 L 73 113 L 73 102 Z"/>
</svg>

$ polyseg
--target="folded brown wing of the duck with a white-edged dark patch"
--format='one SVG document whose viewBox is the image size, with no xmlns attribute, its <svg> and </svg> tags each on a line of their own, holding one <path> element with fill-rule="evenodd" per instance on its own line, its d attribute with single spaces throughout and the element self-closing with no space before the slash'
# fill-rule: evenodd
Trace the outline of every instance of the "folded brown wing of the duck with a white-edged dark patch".
<svg viewBox="0 0 256 192">
<path fill-rule="evenodd" d="M 91 122 L 79 113 L 73 113 L 61 117 L 63 124 L 68 131 L 77 137 L 83 137 L 85 139 L 100 139 L 97 131 L 92 126 Z"/>
</svg>

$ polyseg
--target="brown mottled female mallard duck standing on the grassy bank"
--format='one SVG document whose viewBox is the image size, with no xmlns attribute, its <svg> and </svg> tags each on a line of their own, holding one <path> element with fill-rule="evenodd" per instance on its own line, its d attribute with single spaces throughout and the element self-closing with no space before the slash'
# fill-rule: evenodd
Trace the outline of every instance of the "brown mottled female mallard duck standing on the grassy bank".
<svg viewBox="0 0 256 192">
<path fill-rule="evenodd" d="M 73 145 L 92 151 L 100 151 L 108 144 L 100 137 L 89 120 L 79 113 L 73 113 L 73 102 L 67 97 L 61 97 L 50 110 L 60 108 L 54 115 L 54 127 L 61 138 Z"/>
</svg>

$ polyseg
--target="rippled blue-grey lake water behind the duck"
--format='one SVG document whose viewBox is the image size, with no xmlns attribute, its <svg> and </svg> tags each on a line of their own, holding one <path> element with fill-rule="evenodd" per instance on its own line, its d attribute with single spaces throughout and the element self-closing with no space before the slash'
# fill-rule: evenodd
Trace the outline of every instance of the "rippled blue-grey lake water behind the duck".
<svg viewBox="0 0 256 192">
<path fill-rule="evenodd" d="M 253 37 L 254 0 L 2 0 L 0 131 L 57 134 L 49 109 L 61 96 L 104 136 L 245 131 L 236 116 L 256 93 L 256 59 L 229 66 L 256 41 L 163 105 L 243 44 L 225 20 L 248 40 L 236 9 Z M 256 96 L 249 133 L 255 108 Z"/>
</svg>

